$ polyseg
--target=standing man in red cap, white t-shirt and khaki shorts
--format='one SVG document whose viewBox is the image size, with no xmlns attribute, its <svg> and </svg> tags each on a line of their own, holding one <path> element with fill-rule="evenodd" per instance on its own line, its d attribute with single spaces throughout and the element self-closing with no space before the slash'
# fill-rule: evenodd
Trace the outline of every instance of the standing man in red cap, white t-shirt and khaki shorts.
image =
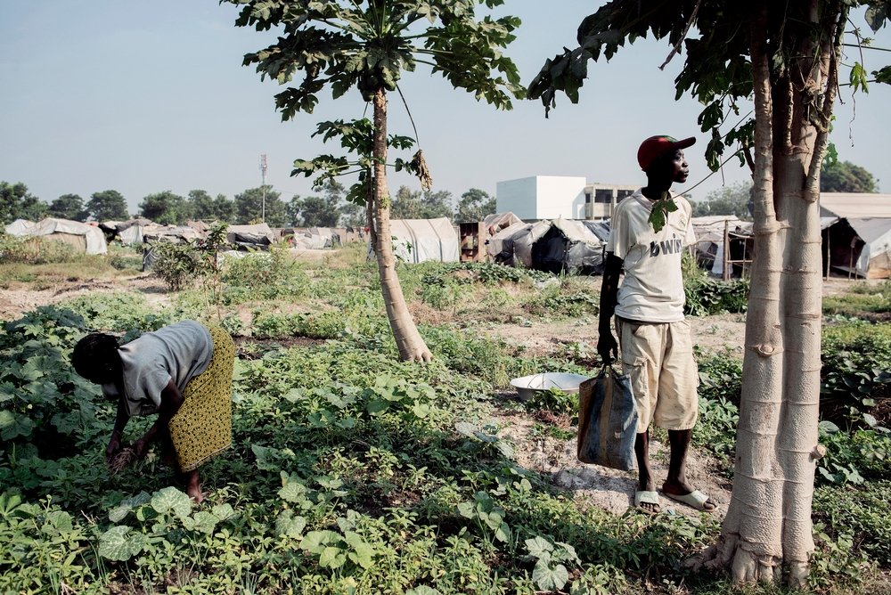
<svg viewBox="0 0 891 595">
<path fill-rule="evenodd" d="M 668 192 L 672 183 L 686 182 L 689 168 L 683 150 L 695 142 L 660 134 L 641 144 L 637 161 L 647 185 L 618 203 L 603 272 L 597 352 L 610 363 L 620 350 L 623 372 L 631 376 L 639 415 L 634 452 L 640 475 L 634 506 L 648 513 L 659 510 L 650 467 L 650 423 L 668 430 L 671 447 L 662 493 L 695 509 L 715 509 L 715 502 L 686 477 L 687 449 L 699 415 L 699 380 L 690 323 L 683 317 L 681 257 L 695 238 L 690 203 Z M 664 219 L 659 231 L 650 223 L 654 207 Z M 623 269 L 625 279 L 619 286 Z M 609 325 L 614 314 L 618 343 Z"/>
</svg>

